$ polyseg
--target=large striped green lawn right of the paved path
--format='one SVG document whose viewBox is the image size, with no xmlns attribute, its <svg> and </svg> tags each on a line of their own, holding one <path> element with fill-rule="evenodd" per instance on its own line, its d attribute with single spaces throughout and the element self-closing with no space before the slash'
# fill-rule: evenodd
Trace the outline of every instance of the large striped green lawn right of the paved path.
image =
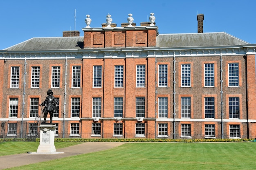
<svg viewBox="0 0 256 170">
<path fill-rule="evenodd" d="M 11 170 L 254 170 L 256 142 L 127 143 Z M 47 166 L 45 166 L 47 165 Z"/>
</svg>

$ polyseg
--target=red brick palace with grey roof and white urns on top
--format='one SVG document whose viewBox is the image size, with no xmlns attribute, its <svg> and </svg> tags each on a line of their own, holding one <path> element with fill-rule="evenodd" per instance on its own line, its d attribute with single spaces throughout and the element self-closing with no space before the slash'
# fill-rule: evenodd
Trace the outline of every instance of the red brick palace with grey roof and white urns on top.
<svg viewBox="0 0 256 170">
<path fill-rule="evenodd" d="M 256 44 L 203 33 L 202 14 L 180 34 L 110 17 L 0 50 L 1 137 L 38 135 L 48 89 L 58 137 L 256 137 Z"/>
</svg>

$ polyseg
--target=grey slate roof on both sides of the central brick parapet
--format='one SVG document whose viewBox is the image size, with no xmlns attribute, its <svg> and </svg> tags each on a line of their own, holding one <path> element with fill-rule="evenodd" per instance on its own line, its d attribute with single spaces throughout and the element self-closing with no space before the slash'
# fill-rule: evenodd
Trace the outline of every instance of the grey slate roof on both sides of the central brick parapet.
<svg viewBox="0 0 256 170">
<path fill-rule="evenodd" d="M 227 46 L 249 44 L 225 32 L 159 34 L 157 47 Z M 31 38 L 4 50 L 73 50 L 83 49 L 83 37 Z"/>
</svg>

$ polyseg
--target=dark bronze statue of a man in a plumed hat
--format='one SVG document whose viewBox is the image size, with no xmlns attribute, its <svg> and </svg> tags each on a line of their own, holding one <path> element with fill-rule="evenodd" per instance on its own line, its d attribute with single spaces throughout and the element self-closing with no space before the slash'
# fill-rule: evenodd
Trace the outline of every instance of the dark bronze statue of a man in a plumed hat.
<svg viewBox="0 0 256 170">
<path fill-rule="evenodd" d="M 40 106 L 45 106 L 45 108 L 43 109 L 43 114 L 44 114 L 43 123 L 46 122 L 46 117 L 47 117 L 48 113 L 50 115 L 50 123 L 52 123 L 53 113 L 57 110 L 56 104 L 58 104 L 58 101 L 53 97 L 52 90 L 49 89 L 47 91 L 47 97 L 46 97 L 45 101 L 42 104 L 40 104 Z"/>
</svg>

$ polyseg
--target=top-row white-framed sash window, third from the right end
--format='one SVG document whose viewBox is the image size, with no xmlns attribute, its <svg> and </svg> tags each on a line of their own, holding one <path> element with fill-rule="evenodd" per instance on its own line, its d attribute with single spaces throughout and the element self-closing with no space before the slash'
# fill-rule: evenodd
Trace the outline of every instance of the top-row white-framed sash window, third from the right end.
<svg viewBox="0 0 256 170">
<path fill-rule="evenodd" d="M 181 86 L 191 87 L 191 64 L 181 64 Z"/>
</svg>

